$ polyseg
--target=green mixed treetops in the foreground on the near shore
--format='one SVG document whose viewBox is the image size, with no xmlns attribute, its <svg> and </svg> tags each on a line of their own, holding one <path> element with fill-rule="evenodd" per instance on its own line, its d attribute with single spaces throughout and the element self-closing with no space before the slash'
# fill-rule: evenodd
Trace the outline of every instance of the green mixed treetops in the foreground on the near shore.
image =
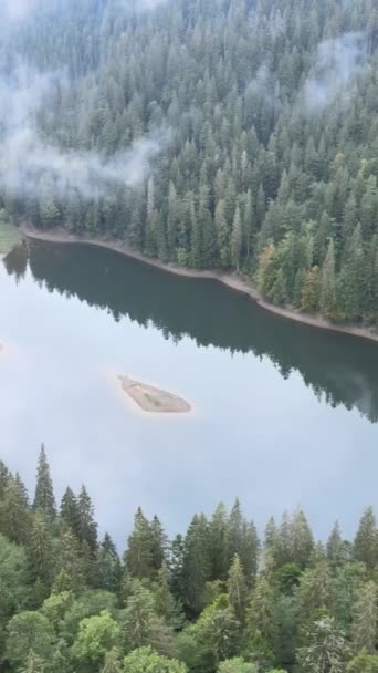
<svg viewBox="0 0 378 673">
<path fill-rule="evenodd" d="M 32 503 L 0 463 L 4 672 L 376 673 L 377 572 L 371 508 L 325 545 L 300 509 L 260 541 L 238 499 L 171 540 L 139 508 L 120 557 L 84 486 L 56 507 L 43 446 Z"/>
</svg>

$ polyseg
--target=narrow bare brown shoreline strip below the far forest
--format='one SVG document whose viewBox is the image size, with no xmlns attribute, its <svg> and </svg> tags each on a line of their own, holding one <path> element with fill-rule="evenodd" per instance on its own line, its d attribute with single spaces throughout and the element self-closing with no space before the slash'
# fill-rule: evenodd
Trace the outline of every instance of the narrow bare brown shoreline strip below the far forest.
<svg viewBox="0 0 378 673">
<path fill-rule="evenodd" d="M 349 334 L 350 336 L 358 336 L 360 339 L 367 339 L 369 341 L 378 342 L 378 332 L 369 328 L 337 324 L 329 320 L 326 320 L 325 318 L 321 318 L 319 315 L 311 315 L 308 313 L 302 313 L 301 311 L 297 311 L 295 309 L 284 309 L 281 307 L 276 307 L 270 303 L 269 301 L 265 301 L 256 289 L 250 286 L 245 280 L 243 280 L 243 278 L 241 278 L 237 273 L 228 273 L 219 270 L 189 269 L 188 267 L 179 267 L 174 262 L 162 262 L 153 257 L 147 257 L 146 255 L 134 250 L 127 244 L 117 240 L 109 240 L 105 238 L 83 238 L 73 234 L 69 234 L 67 231 L 65 231 L 65 229 L 62 228 L 56 229 L 54 231 L 41 231 L 30 226 L 23 226 L 20 228 L 20 231 L 25 238 L 30 238 L 32 240 L 41 240 L 44 242 L 61 245 L 75 244 L 83 246 L 94 246 L 97 248 L 113 250 L 115 252 L 124 255 L 125 257 L 136 259 L 143 263 L 160 269 L 160 271 L 181 276 L 182 278 L 196 278 L 199 280 L 207 278 L 209 280 L 216 280 L 229 288 L 230 290 L 239 292 L 240 294 L 244 294 L 244 297 L 248 297 L 249 299 L 254 301 L 261 309 L 264 309 L 265 311 L 269 311 L 270 313 L 273 313 L 279 318 L 293 320 L 294 322 L 298 322 L 300 324 L 316 328 L 318 330 L 339 332 L 342 334 Z"/>
</svg>

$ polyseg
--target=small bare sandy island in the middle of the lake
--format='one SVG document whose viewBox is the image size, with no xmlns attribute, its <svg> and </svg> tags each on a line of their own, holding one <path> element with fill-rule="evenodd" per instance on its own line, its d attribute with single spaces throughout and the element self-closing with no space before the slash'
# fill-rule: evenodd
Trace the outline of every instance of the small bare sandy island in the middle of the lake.
<svg viewBox="0 0 378 673">
<path fill-rule="evenodd" d="M 118 379 L 123 390 L 145 412 L 186 414 L 191 410 L 188 402 L 177 395 L 172 395 L 172 393 L 160 391 L 151 385 L 140 383 L 140 381 L 134 381 L 129 376 L 118 376 Z"/>
</svg>

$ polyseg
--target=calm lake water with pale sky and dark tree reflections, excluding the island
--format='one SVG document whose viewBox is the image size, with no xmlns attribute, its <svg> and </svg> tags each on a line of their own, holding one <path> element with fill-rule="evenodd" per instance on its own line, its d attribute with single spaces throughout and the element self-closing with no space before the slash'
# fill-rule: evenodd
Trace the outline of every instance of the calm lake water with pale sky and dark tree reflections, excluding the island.
<svg viewBox="0 0 378 673">
<path fill-rule="evenodd" d="M 0 457 L 33 488 L 44 442 L 120 546 L 138 505 L 170 534 L 235 496 L 260 530 L 301 505 L 322 537 L 377 506 L 378 344 L 84 246 L 17 249 L 0 299 Z M 143 414 L 117 374 L 193 413 Z"/>
</svg>

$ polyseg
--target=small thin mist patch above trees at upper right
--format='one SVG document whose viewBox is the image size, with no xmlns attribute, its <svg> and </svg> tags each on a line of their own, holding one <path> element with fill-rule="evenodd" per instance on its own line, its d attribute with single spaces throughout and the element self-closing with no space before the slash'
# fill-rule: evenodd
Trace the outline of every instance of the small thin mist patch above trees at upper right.
<svg viewBox="0 0 378 673">
<path fill-rule="evenodd" d="M 323 111 L 337 97 L 345 101 L 354 77 L 366 64 L 363 32 L 350 32 L 321 42 L 316 62 L 304 86 L 304 102 L 309 111 Z"/>
</svg>

